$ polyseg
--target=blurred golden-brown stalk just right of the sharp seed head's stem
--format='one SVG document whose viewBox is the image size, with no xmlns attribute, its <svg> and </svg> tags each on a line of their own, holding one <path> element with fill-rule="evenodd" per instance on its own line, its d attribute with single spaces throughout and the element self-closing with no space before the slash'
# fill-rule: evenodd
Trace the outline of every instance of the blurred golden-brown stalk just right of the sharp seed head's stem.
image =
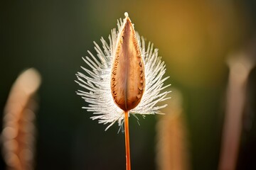
<svg viewBox="0 0 256 170">
<path fill-rule="evenodd" d="M 156 165 L 159 170 L 188 170 L 188 137 L 181 106 L 182 96 L 176 89 L 171 94 L 172 100 L 163 109 L 166 114 L 159 117 L 156 125 Z"/>
</svg>

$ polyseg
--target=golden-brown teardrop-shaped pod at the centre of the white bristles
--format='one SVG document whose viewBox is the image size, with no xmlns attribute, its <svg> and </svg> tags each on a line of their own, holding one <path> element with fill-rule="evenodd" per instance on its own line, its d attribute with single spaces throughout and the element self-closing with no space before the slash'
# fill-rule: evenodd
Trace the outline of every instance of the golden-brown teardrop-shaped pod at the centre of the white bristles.
<svg viewBox="0 0 256 170">
<path fill-rule="evenodd" d="M 130 111 L 141 101 L 145 87 L 144 64 L 134 28 L 129 17 L 117 39 L 111 75 L 114 102 L 123 111 Z"/>
</svg>

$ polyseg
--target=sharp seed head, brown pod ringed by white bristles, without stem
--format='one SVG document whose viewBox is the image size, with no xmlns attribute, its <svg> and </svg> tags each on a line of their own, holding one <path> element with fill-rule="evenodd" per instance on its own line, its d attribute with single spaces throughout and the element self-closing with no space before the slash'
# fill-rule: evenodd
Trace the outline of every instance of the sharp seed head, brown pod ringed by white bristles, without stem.
<svg viewBox="0 0 256 170">
<path fill-rule="evenodd" d="M 82 67 L 85 73 L 76 74 L 76 82 L 85 91 L 78 90 L 88 103 L 83 107 L 93 112 L 92 120 L 109 124 L 122 124 L 124 111 L 130 114 L 149 115 L 161 113 L 159 109 L 166 105 L 156 106 L 156 103 L 168 99 L 170 91 L 164 91 L 166 65 L 158 56 L 151 42 L 145 45 L 145 40 L 134 30 L 134 25 L 128 13 L 125 18 L 117 20 L 117 30 L 114 28 L 109 35 L 109 43 L 101 38 L 102 47 L 95 44 L 97 55 L 82 57 L 87 67 Z"/>
</svg>

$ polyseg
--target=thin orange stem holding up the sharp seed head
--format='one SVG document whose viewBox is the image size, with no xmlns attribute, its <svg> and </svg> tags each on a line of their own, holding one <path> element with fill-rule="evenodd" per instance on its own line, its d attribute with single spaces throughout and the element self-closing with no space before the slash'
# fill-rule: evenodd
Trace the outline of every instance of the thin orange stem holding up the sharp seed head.
<svg viewBox="0 0 256 170">
<path fill-rule="evenodd" d="M 129 115 L 128 111 L 124 111 L 124 137 L 125 137 L 125 152 L 127 170 L 131 170 L 130 152 L 129 152 Z"/>
</svg>

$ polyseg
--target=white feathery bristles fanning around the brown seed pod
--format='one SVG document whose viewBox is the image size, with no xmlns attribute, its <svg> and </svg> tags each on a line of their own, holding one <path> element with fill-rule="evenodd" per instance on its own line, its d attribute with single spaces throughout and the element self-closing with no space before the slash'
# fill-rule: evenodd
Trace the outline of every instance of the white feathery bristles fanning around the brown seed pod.
<svg viewBox="0 0 256 170">
<path fill-rule="evenodd" d="M 124 16 L 128 17 L 128 13 L 125 12 Z M 76 82 L 85 89 L 85 91 L 78 90 L 77 94 L 88 103 L 88 106 L 83 108 L 93 112 L 92 120 L 98 119 L 99 123 L 109 124 L 106 130 L 115 122 L 122 125 L 122 120 L 124 119 L 124 113 L 114 103 L 110 89 L 114 50 L 123 24 L 122 19 L 117 20 L 118 31 L 115 28 L 112 29 L 111 35 L 109 35 L 109 44 L 103 38 L 101 38 L 102 47 L 94 42 L 97 55 L 92 55 L 88 51 L 90 57 L 82 58 L 87 64 L 86 68 L 82 67 L 85 73 L 78 72 L 76 74 L 78 78 Z M 166 65 L 161 61 L 161 57 L 158 56 L 158 49 L 154 49 L 151 42 L 146 47 L 144 38 L 140 37 L 138 33 L 137 40 L 144 61 L 146 85 L 142 101 L 129 113 L 140 115 L 161 113 L 159 109 L 164 108 L 166 105 L 156 106 L 156 103 L 168 99 L 166 95 L 170 93 L 170 91 L 162 91 L 170 86 L 164 86 L 164 81 L 169 78 L 163 79 Z"/>
</svg>

